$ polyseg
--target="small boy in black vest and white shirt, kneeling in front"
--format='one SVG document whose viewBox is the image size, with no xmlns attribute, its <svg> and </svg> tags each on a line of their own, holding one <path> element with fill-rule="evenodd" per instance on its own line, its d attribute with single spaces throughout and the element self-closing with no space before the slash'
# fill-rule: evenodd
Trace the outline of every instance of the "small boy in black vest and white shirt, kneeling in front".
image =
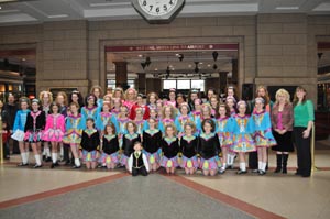
<svg viewBox="0 0 330 219">
<path fill-rule="evenodd" d="M 145 154 L 142 153 L 141 142 L 134 143 L 134 152 L 129 158 L 129 169 L 132 176 L 138 176 L 139 174 L 147 176 L 148 164 Z"/>
</svg>

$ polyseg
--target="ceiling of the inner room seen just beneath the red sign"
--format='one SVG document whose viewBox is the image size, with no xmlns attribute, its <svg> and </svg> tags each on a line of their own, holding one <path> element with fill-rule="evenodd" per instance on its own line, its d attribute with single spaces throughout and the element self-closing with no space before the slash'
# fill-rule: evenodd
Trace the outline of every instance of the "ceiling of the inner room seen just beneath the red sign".
<svg viewBox="0 0 330 219">
<path fill-rule="evenodd" d="M 177 51 L 177 52 L 130 52 L 107 53 L 107 72 L 114 73 L 114 62 L 127 62 L 128 73 L 146 73 L 147 77 L 164 76 L 169 70 L 169 77 L 219 77 L 219 72 L 231 72 L 232 59 L 238 58 L 238 51 L 217 51 L 217 61 L 213 59 L 213 51 Z M 179 59 L 182 56 L 182 61 Z M 142 63 L 150 57 L 151 64 L 143 69 Z M 196 64 L 198 62 L 198 64 Z M 213 66 L 216 64 L 216 66 Z M 168 67 L 168 68 L 167 68 Z M 196 69 L 198 67 L 198 69 Z M 216 67 L 216 69 L 213 68 Z"/>
</svg>

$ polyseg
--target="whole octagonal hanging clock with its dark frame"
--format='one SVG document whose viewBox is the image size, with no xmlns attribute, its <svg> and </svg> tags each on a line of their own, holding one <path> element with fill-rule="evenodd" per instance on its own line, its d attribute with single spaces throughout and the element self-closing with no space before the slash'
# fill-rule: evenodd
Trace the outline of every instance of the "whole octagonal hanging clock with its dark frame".
<svg viewBox="0 0 330 219">
<path fill-rule="evenodd" d="M 148 23 L 169 23 L 180 12 L 185 0 L 131 0 Z"/>
</svg>

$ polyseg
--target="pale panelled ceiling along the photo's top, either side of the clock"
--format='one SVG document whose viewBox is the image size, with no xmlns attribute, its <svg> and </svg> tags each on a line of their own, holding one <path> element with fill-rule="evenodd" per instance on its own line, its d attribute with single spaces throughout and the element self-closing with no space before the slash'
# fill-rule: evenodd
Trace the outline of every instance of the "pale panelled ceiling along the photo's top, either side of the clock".
<svg viewBox="0 0 330 219">
<path fill-rule="evenodd" d="M 1 3 L 2 2 L 2 3 Z M 58 20 L 141 19 L 130 0 L 0 0 L 0 25 Z M 329 14 L 329 0 L 186 0 L 178 17 Z"/>
</svg>

